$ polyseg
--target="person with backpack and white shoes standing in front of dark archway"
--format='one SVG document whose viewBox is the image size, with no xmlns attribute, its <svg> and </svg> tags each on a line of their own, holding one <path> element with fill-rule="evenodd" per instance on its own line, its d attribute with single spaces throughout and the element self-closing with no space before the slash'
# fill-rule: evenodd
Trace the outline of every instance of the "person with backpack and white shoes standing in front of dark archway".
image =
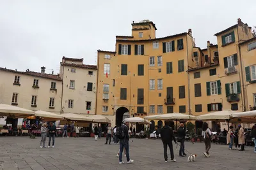
<svg viewBox="0 0 256 170">
<path fill-rule="evenodd" d="M 124 138 L 120 139 L 119 143 L 120 143 L 120 150 L 119 150 L 119 164 L 124 164 L 124 161 L 122 161 L 122 154 L 125 148 L 125 152 L 126 152 L 126 160 L 127 160 L 127 164 L 131 164 L 132 162 L 134 162 L 134 160 L 130 159 L 130 154 L 129 154 L 129 134 L 128 134 L 128 126 L 129 126 L 129 122 L 127 122 L 126 120 L 124 120 L 122 122 L 123 124 L 121 125 L 120 129 L 121 129 L 121 133 L 124 133 Z"/>
</svg>

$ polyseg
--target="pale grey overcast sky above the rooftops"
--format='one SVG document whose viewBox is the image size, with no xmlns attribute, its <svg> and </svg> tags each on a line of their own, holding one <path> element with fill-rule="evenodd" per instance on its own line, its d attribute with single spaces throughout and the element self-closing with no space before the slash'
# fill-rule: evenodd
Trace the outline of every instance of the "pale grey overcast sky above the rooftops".
<svg viewBox="0 0 256 170">
<path fill-rule="evenodd" d="M 116 35 L 131 36 L 133 20 L 152 20 L 157 38 L 191 28 L 206 48 L 237 18 L 256 25 L 255 9 L 255 0 L 0 0 L 0 67 L 58 73 L 63 55 L 96 64 L 98 49 L 113 51 Z"/>
</svg>

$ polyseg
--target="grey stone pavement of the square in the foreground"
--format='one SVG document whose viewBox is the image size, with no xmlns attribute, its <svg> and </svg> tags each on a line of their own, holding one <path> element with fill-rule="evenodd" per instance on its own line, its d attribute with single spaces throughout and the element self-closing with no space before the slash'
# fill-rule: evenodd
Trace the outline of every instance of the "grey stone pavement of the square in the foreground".
<svg viewBox="0 0 256 170">
<path fill-rule="evenodd" d="M 48 138 L 47 138 L 48 140 Z M 40 137 L 0 137 L 0 169 L 256 169 L 256 153 L 246 146 L 245 152 L 228 150 L 227 145 L 212 145 L 211 157 L 205 158 L 204 143 L 186 142 L 186 149 L 196 153 L 195 162 L 180 158 L 164 162 L 160 139 L 131 139 L 130 155 L 133 164 L 118 164 L 119 145 L 104 145 L 106 138 L 56 138 L 55 148 L 40 148 Z M 133 140 L 133 142 L 132 142 Z M 170 157 L 170 153 L 168 153 Z M 124 157 L 125 159 L 125 157 Z"/>
</svg>

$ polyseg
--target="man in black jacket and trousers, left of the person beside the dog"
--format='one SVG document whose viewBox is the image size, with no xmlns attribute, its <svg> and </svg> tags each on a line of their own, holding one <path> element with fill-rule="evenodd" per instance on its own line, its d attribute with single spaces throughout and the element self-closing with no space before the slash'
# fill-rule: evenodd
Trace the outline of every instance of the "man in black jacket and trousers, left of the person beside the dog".
<svg viewBox="0 0 256 170">
<path fill-rule="evenodd" d="M 174 159 L 173 146 L 172 146 L 172 140 L 176 143 L 176 139 L 173 136 L 172 127 L 169 126 L 169 122 L 167 122 L 167 121 L 164 121 L 164 127 L 161 129 L 161 139 L 162 139 L 163 145 L 164 145 L 164 160 L 165 160 L 165 162 L 168 162 L 167 145 L 170 148 L 171 161 L 176 162 L 176 160 Z"/>
</svg>

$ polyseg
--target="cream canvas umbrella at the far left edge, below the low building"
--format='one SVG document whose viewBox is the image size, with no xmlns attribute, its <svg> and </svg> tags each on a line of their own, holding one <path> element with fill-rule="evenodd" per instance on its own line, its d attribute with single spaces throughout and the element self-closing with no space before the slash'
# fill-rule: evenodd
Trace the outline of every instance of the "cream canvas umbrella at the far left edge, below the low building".
<svg viewBox="0 0 256 170">
<path fill-rule="evenodd" d="M 34 111 L 19 108 L 8 104 L 0 104 L 0 116 L 12 118 L 24 118 L 34 115 Z"/>
</svg>

